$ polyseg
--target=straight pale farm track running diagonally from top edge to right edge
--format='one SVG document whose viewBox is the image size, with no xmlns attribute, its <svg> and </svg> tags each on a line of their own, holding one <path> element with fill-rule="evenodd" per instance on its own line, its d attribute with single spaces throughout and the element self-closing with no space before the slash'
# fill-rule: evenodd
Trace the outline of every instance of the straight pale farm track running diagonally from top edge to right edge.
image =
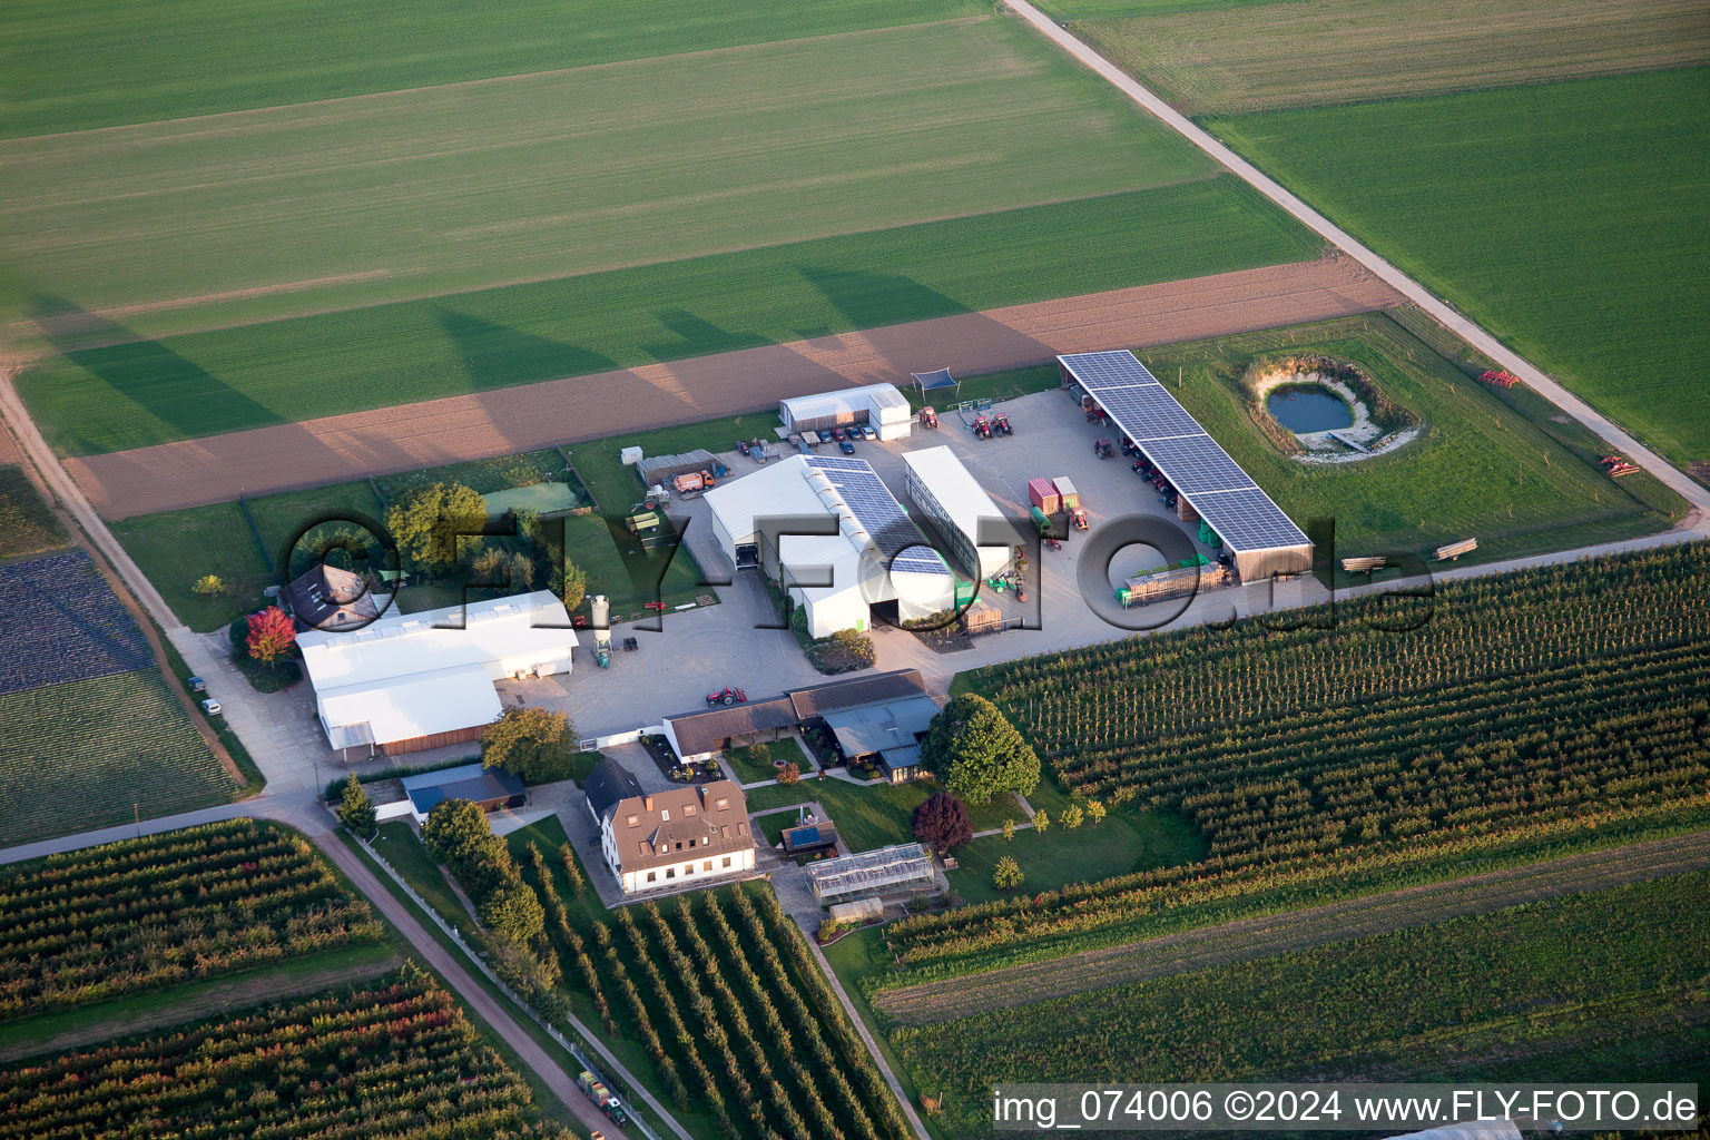
<svg viewBox="0 0 1710 1140">
<path fill-rule="evenodd" d="M 1165 103 L 1161 97 L 1153 94 L 1151 89 L 1144 87 L 1132 75 L 1118 68 L 1115 63 L 1101 56 L 1093 50 L 1084 39 L 1070 32 L 1067 27 L 1055 24 L 1048 15 L 1040 12 L 1036 7 L 1028 3 L 1028 0 L 1004 0 L 1004 3 L 1016 12 L 1021 19 L 1029 22 L 1040 32 L 1043 32 L 1052 43 L 1067 51 L 1074 60 L 1093 70 L 1096 75 L 1108 80 L 1122 94 L 1129 96 L 1141 109 L 1151 113 L 1161 123 L 1175 130 L 1178 135 L 1192 142 L 1195 147 L 1209 154 L 1212 159 L 1228 167 L 1236 178 L 1245 181 L 1248 186 L 1262 193 L 1265 198 L 1276 205 L 1288 210 L 1296 220 L 1308 226 L 1320 238 L 1334 243 L 1351 258 L 1359 261 L 1363 267 L 1377 273 L 1380 280 L 1400 292 L 1404 297 L 1424 309 L 1436 323 L 1443 325 L 1452 333 L 1459 335 L 1469 345 L 1493 359 L 1501 367 L 1515 373 L 1524 379 L 1534 391 L 1554 403 L 1558 408 L 1577 419 L 1580 424 L 1595 432 L 1604 443 L 1611 444 L 1618 451 L 1628 455 L 1630 460 L 1643 467 L 1647 472 L 1655 475 L 1664 485 L 1674 491 L 1678 496 L 1691 502 L 1700 511 L 1710 511 L 1710 489 L 1698 484 L 1695 479 L 1681 472 L 1678 467 L 1655 455 L 1650 448 L 1642 444 L 1638 439 L 1630 436 L 1607 415 L 1597 412 L 1587 402 L 1580 400 L 1577 395 L 1563 388 L 1560 383 L 1549 378 L 1541 367 L 1522 357 L 1518 352 L 1496 340 L 1491 333 L 1484 332 L 1481 325 L 1464 316 L 1457 309 L 1450 308 L 1440 301 L 1431 291 L 1416 282 L 1414 279 L 1402 273 L 1399 268 L 1390 265 L 1385 258 L 1378 256 L 1373 250 L 1366 248 L 1353 238 L 1341 226 L 1318 214 L 1315 209 L 1306 205 L 1305 200 L 1294 193 L 1282 188 L 1274 178 L 1260 171 L 1257 166 L 1238 156 L 1235 150 L 1218 142 L 1209 132 L 1197 126 L 1190 118 L 1176 111 L 1173 106 Z"/>
</svg>

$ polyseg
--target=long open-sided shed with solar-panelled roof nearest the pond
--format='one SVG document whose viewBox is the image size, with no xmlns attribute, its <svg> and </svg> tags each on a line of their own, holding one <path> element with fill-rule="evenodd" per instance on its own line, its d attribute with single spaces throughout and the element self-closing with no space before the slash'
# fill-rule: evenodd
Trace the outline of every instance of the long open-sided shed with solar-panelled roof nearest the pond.
<svg viewBox="0 0 1710 1140">
<path fill-rule="evenodd" d="M 1132 352 L 1077 352 L 1057 366 L 1064 388 L 1081 385 L 1218 532 L 1241 581 L 1312 569 L 1312 540 Z"/>
</svg>

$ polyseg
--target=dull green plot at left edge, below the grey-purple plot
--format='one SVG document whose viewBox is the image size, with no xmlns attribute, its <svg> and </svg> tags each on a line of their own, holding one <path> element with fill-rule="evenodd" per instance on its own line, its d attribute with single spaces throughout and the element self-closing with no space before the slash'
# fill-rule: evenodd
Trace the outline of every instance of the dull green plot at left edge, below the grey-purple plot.
<svg viewBox="0 0 1710 1140">
<path fill-rule="evenodd" d="M 152 668 L 0 696 L 0 846 L 190 812 L 236 786 Z"/>
</svg>

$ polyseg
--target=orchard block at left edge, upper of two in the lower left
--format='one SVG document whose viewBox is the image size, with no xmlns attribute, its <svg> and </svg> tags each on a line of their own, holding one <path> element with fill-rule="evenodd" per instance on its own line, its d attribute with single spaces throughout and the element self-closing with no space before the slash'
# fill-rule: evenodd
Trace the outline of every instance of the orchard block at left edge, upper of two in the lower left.
<svg viewBox="0 0 1710 1140">
<path fill-rule="evenodd" d="M 234 819 L 0 872 L 0 1019 L 374 942 L 299 834 Z"/>
</svg>

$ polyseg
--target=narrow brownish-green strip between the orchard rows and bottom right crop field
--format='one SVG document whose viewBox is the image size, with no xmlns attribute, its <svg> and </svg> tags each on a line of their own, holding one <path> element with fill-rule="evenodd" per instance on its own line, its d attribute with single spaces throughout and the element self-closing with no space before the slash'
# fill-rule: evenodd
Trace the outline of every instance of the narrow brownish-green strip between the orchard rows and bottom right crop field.
<svg viewBox="0 0 1710 1140">
<path fill-rule="evenodd" d="M 1705 868 L 1710 831 L 1695 831 L 899 986 L 872 1005 L 896 1025 L 934 1024 Z"/>
</svg>

